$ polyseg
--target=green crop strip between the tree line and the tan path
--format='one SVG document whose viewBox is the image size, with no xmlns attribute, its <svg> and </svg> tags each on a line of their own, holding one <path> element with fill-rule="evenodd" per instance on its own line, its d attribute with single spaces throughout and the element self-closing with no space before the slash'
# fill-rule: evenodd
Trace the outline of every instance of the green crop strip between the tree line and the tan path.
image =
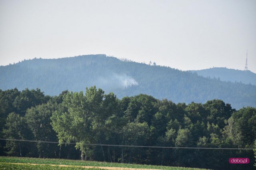
<svg viewBox="0 0 256 170">
<path fill-rule="evenodd" d="M 156 165 L 121 164 L 121 163 L 83 161 L 83 160 L 49 159 L 49 158 L 42 159 L 42 158 L 8 157 L 8 156 L 0 156 L 0 162 L 76 165 L 76 166 L 107 166 L 107 167 L 120 167 L 120 168 L 146 168 L 146 169 L 162 169 L 162 170 L 205 170 L 205 169 L 199 169 L 199 168 L 183 168 L 183 167 L 156 166 Z"/>
</svg>

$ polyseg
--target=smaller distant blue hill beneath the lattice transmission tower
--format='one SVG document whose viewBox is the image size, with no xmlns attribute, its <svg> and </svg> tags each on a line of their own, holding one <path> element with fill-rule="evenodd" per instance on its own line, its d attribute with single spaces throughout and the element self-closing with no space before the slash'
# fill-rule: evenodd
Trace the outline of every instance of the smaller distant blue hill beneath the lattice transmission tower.
<svg viewBox="0 0 256 170">
<path fill-rule="evenodd" d="M 224 67 L 214 67 L 210 69 L 196 70 L 198 75 L 210 78 L 220 78 L 222 81 L 242 82 L 245 84 L 256 85 L 256 74 L 251 71 L 227 69 Z"/>
</svg>

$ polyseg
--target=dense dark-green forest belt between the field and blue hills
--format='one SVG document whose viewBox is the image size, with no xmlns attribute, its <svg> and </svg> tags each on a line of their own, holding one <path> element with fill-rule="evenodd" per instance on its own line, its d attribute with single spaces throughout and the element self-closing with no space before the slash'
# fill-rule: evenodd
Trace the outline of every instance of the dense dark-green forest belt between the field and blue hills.
<svg viewBox="0 0 256 170">
<path fill-rule="evenodd" d="M 63 91 L 52 97 L 40 89 L 15 88 L 0 90 L 0 127 L 0 138 L 30 141 L 0 140 L 0 155 L 254 168 L 253 150 L 106 146 L 255 148 L 256 108 L 236 110 L 218 99 L 203 104 L 174 103 L 145 94 L 118 99 L 95 86 L 85 93 Z M 228 159 L 235 157 L 250 158 L 250 164 L 229 164 Z"/>
</svg>

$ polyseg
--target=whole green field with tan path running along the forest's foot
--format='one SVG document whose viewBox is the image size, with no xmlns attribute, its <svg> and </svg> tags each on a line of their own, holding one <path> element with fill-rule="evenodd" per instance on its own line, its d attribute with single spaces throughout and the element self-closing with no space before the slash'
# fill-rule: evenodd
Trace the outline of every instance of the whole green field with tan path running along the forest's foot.
<svg viewBox="0 0 256 170">
<path fill-rule="evenodd" d="M 38 165 L 32 165 L 38 164 Z M 58 166 L 52 166 L 58 165 Z M 86 167 L 83 167 L 86 166 Z M 89 166 L 89 167 L 88 167 Z M 110 168 L 112 167 L 112 168 Z M 66 159 L 42 159 L 42 158 L 20 158 L 0 156 L 0 170 L 82 170 L 82 169 L 161 169 L 161 170 L 204 170 L 199 168 L 183 168 L 170 166 L 140 165 L 140 164 L 121 164 L 110 162 L 66 160 Z"/>
</svg>

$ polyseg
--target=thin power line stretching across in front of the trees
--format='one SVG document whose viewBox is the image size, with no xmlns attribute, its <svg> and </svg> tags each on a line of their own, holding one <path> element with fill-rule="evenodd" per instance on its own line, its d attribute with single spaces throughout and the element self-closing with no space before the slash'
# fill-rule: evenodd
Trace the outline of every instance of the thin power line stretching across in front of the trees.
<svg viewBox="0 0 256 170">
<path fill-rule="evenodd" d="M 76 144 L 74 142 L 54 142 L 54 141 L 40 141 L 40 140 L 21 140 L 21 139 L 6 139 L 0 138 L 0 140 L 11 140 L 21 142 L 40 142 L 40 143 L 55 143 L 55 144 Z M 119 144 L 84 144 L 88 146 L 119 146 L 119 147 L 136 147 L 136 148 L 176 148 L 176 149 L 229 149 L 229 150 L 254 150 L 256 148 L 197 148 L 197 147 L 172 147 L 172 146 L 138 146 L 138 145 L 119 145 Z"/>
</svg>

